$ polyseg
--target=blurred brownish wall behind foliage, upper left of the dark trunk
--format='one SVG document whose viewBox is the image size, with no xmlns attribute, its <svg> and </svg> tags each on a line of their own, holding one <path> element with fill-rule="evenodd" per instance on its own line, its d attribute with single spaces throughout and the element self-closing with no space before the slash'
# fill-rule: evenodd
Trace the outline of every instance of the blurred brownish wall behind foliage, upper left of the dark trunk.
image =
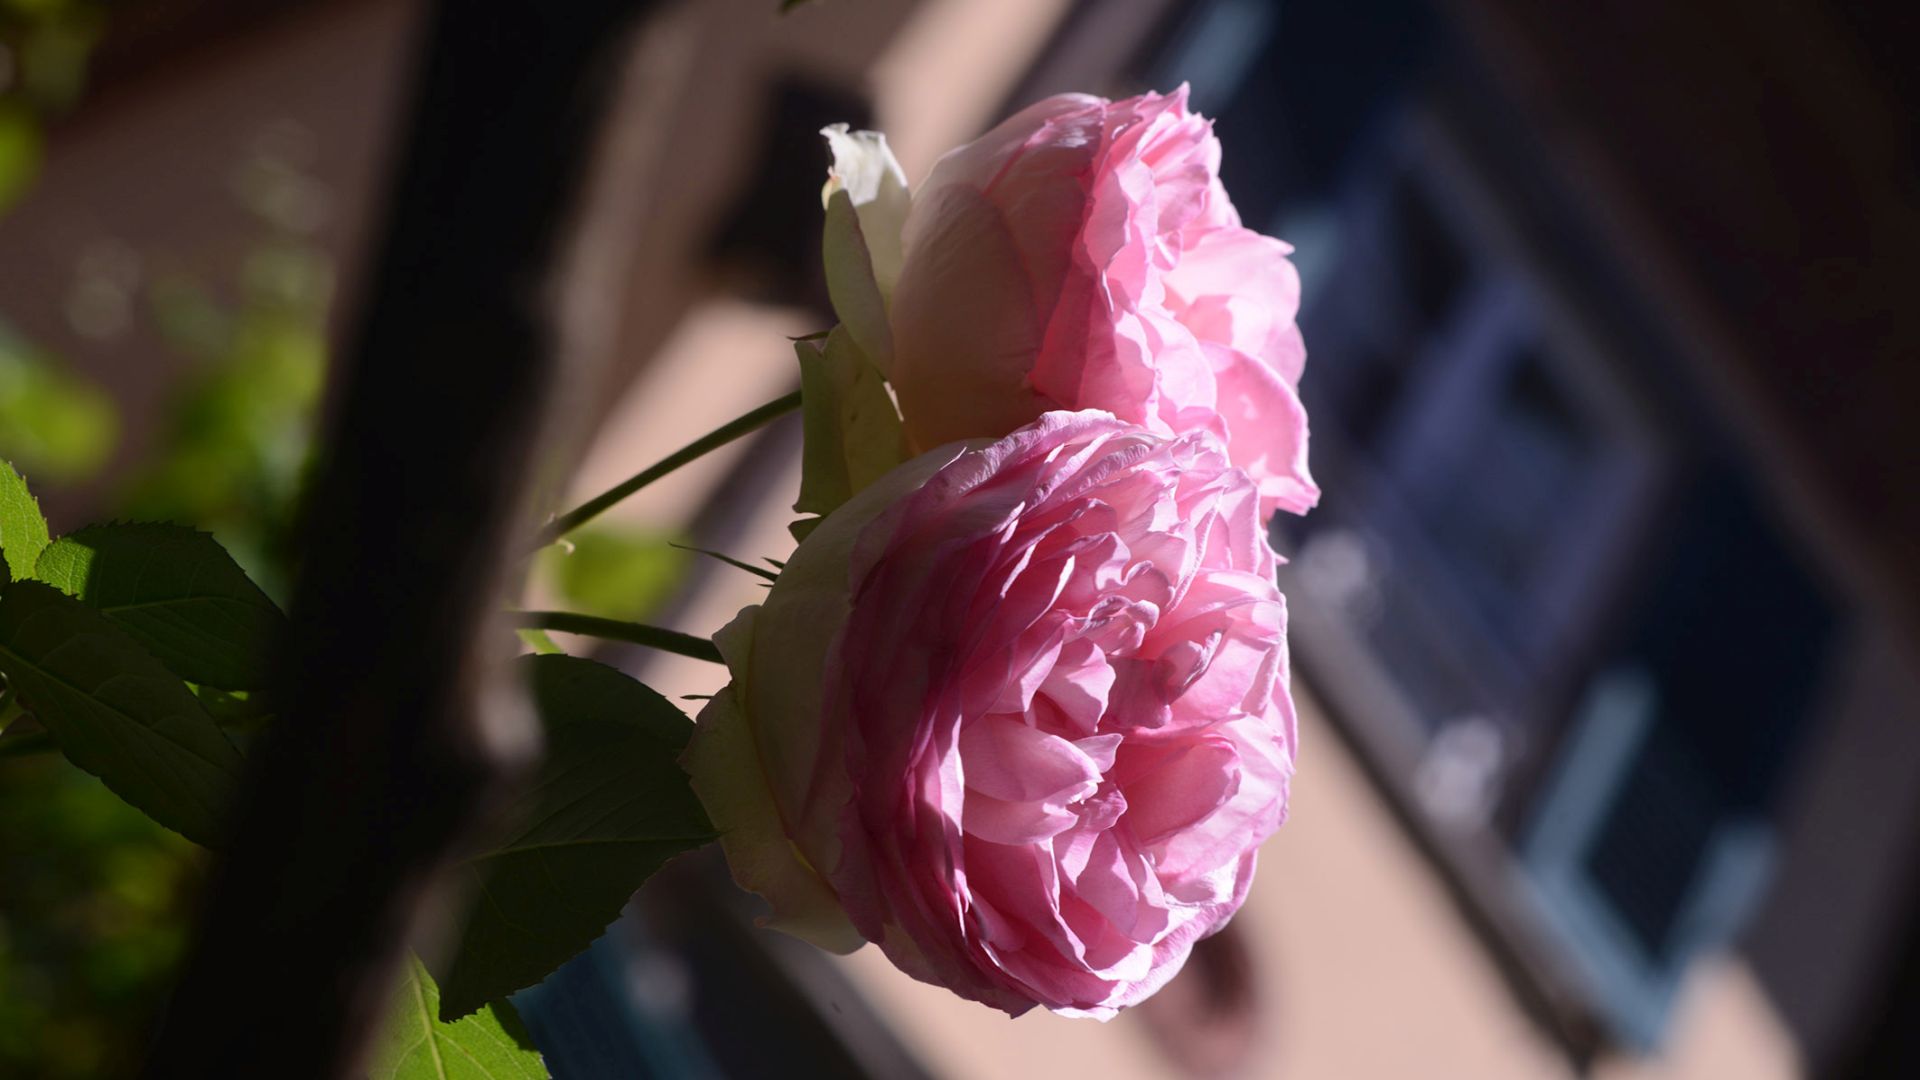
<svg viewBox="0 0 1920 1080">
<path fill-rule="evenodd" d="M 121 411 L 106 473 L 42 494 L 56 527 L 98 509 L 142 461 L 188 367 L 156 327 L 156 281 L 186 275 L 232 300 L 248 254 L 276 227 L 271 215 L 336 267 L 361 263 L 413 8 L 346 0 L 276 19 L 228 12 L 192 38 L 161 37 L 157 56 L 138 37 L 109 38 L 115 63 L 52 125 L 36 186 L 0 215 L 0 319 L 106 388 Z M 263 206 L 276 192 L 261 167 L 298 171 L 301 206 Z"/>
</svg>

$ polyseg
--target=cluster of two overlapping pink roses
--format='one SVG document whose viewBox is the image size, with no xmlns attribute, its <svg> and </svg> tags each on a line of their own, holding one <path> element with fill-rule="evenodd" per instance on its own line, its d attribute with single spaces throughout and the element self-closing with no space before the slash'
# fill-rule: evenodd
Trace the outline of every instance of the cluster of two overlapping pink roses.
<svg viewBox="0 0 1920 1080">
<path fill-rule="evenodd" d="M 772 926 L 1112 1017 L 1286 815 L 1265 519 L 1319 494 L 1288 248 L 1185 90 L 1048 98 L 912 192 L 881 136 L 828 138 L 824 517 L 716 636 L 684 763 Z"/>
</svg>

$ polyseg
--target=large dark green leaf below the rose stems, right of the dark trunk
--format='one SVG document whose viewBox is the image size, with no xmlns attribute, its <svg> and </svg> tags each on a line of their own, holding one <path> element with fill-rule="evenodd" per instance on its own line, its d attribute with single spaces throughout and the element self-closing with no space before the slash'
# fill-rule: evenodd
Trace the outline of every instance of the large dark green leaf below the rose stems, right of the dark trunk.
<svg viewBox="0 0 1920 1080">
<path fill-rule="evenodd" d="M 476 901 L 442 978 L 442 1019 L 543 980 L 668 859 L 714 840 L 676 763 L 693 724 L 672 701 L 589 659 L 518 663 L 547 755 L 511 838 L 467 863 Z"/>
</svg>

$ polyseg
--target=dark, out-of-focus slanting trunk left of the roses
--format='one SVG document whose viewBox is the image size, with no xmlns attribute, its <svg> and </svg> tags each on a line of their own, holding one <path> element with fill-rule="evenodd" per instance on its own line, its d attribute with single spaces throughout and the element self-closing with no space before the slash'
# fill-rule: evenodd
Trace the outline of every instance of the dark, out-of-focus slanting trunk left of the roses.
<svg viewBox="0 0 1920 1080">
<path fill-rule="evenodd" d="M 564 390 L 555 284 L 647 0 L 442 0 L 305 509 L 278 713 L 152 1076 L 348 1076 L 528 759 L 497 621 Z"/>
</svg>

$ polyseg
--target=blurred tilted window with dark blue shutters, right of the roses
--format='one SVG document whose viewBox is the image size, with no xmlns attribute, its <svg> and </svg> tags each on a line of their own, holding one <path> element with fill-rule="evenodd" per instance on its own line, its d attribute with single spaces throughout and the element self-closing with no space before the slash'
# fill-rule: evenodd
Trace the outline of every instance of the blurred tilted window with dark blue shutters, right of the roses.
<svg viewBox="0 0 1920 1080">
<path fill-rule="evenodd" d="M 1194 83 L 1242 217 L 1300 248 L 1302 667 L 1442 857 L 1509 853 L 1461 857 L 1469 892 L 1530 897 L 1649 1045 L 1764 888 L 1845 613 L 1442 31 L 1411 0 L 1213 0 L 1140 69 Z"/>
</svg>

